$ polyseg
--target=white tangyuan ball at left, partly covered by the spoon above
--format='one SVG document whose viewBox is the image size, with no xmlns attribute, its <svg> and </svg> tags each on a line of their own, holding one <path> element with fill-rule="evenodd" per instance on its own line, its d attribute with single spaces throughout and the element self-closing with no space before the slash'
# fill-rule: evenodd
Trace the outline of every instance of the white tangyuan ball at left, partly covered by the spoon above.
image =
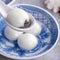
<svg viewBox="0 0 60 60">
<path fill-rule="evenodd" d="M 15 31 L 11 29 L 9 26 L 5 28 L 4 34 L 6 38 L 8 38 L 11 41 L 15 41 L 22 32 Z"/>
</svg>

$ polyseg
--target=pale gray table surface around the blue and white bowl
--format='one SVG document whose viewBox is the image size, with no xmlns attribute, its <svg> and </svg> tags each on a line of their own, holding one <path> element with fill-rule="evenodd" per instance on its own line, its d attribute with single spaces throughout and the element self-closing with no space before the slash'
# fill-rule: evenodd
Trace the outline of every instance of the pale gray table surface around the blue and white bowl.
<svg viewBox="0 0 60 60">
<path fill-rule="evenodd" d="M 16 0 L 16 2 L 14 4 L 20 3 L 20 4 L 33 4 L 39 7 L 42 7 L 46 10 L 48 10 L 46 8 L 46 6 L 44 5 L 44 1 L 45 0 Z M 48 10 L 49 11 L 49 10 Z M 59 23 L 59 27 L 60 27 L 60 15 L 59 14 L 55 14 L 52 11 L 49 11 L 58 21 Z M 2 55 L 0 55 L 0 60 L 13 60 L 13 59 L 9 59 L 6 58 Z M 47 54 L 45 54 L 44 56 L 41 56 L 39 58 L 36 59 L 31 59 L 31 60 L 60 60 L 60 38 L 58 43 L 56 44 L 56 46 Z"/>
</svg>

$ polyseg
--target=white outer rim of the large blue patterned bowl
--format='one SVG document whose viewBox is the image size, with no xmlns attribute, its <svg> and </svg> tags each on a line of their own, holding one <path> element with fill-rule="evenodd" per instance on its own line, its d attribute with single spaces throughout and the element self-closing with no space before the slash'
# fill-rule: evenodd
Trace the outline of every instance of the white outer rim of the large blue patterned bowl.
<svg viewBox="0 0 60 60">
<path fill-rule="evenodd" d="M 2 52 L 0 52 L 0 54 L 3 55 L 3 56 L 5 56 L 5 57 L 12 58 L 12 59 L 34 59 L 34 58 L 38 58 L 40 56 L 43 56 L 43 55 L 47 54 L 48 52 L 50 52 L 55 47 L 55 45 L 57 44 L 57 42 L 59 40 L 60 31 L 59 31 L 59 24 L 58 24 L 57 20 L 55 19 L 55 17 L 50 12 L 48 12 L 47 10 L 45 10 L 42 7 L 31 5 L 31 4 L 14 4 L 12 6 L 18 6 L 18 5 L 32 6 L 32 7 L 41 9 L 41 10 L 45 11 L 47 14 L 49 14 L 54 19 L 54 21 L 55 21 L 55 23 L 57 25 L 57 28 L 58 28 L 58 37 L 57 37 L 56 42 L 54 43 L 54 45 L 49 50 L 47 50 L 46 52 L 44 52 L 44 53 L 42 53 L 40 55 L 37 55 L 37 56 L 32 56 L 32 57 L 14 57 L 13 56 L 12 57 L 11 55 L 5 54 L 5 53 L 3 54 Z"/>
</svg>

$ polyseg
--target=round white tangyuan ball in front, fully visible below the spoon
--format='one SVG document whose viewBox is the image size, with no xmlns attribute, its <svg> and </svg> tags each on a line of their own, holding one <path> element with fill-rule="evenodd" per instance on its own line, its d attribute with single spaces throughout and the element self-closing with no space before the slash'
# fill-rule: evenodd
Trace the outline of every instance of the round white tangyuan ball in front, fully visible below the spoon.
<svg viewBox="0 0 60 60">
<path fill-rule="evenodd" d="M 37 38 L 29 33 L 21 34 L 18 37 L 18 45 L 23 50 L 31 50 L 34 49 L 38 44 Z"/>
</svg>

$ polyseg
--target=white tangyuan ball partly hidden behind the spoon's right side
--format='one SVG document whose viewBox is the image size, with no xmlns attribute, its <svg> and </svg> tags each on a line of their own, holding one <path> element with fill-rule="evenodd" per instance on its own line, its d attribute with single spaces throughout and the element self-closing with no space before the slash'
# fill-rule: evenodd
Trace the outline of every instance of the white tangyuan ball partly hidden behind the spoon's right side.
<svg viewBox="0 0 60 60">
<path fill-rule="evenodd" d="M 34 35 L 39 35 L 40 32 L 41 32 L 41 29 L 42 29 L 41 28 L 41 23 L 39 23 L 39 21 L 36 21 L 34 23 L 34 25 L 31 27 L 31 29 L 29 29 L 26 32 L 31 33 L 31 34 L 34 34 Z"/>
</svg>

